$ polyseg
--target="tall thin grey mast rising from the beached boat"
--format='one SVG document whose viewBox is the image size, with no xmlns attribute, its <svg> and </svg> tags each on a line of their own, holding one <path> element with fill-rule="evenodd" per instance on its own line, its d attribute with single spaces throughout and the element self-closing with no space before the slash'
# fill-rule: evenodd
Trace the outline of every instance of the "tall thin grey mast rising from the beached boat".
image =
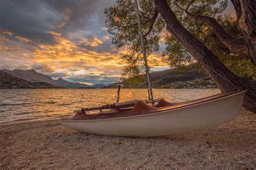
<svg viewBox="0 0 256 170">
<path fill-rule="evenodd" d="M 143 33 L 142 33 L 142 25 L 140 23 L 140 18 L 139 18 L 138 2 L 137 2 L 137 0 L 134 0 L 134 2 L 135 2 L 136 14 L 137 14 L 137 18 L 138 18 L 140 41 L 142 41 L 142 51 L 143 51 L 144 63 L 145 63 L 146 74 L 147 74 L 147 82 L 149 83 L 150 100 L 154 101 L 153 91 L 152 91 L 152 87 L 151 87 L 150 74 L 149 74 L 149 65 L 147 65 L 147 55 L 146 55 L 146 49 L 145 49 L 144 38 L 143 38 Z"/>
</svg>

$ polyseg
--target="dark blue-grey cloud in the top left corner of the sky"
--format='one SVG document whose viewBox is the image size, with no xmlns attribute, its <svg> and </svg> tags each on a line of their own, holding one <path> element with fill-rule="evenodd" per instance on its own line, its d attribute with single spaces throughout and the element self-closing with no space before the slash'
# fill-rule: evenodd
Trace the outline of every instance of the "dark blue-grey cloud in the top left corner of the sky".
<svg viewBox="0 0 256 170">
<path fill-rule="evenodd" d="M 0 28 L 14 36 L 22 36 L 40 44 L 53 44 L 55 39 L 47 30 L 52 30 L 64 18 L 45 1 L 1 1 Z"/>
</svg>

